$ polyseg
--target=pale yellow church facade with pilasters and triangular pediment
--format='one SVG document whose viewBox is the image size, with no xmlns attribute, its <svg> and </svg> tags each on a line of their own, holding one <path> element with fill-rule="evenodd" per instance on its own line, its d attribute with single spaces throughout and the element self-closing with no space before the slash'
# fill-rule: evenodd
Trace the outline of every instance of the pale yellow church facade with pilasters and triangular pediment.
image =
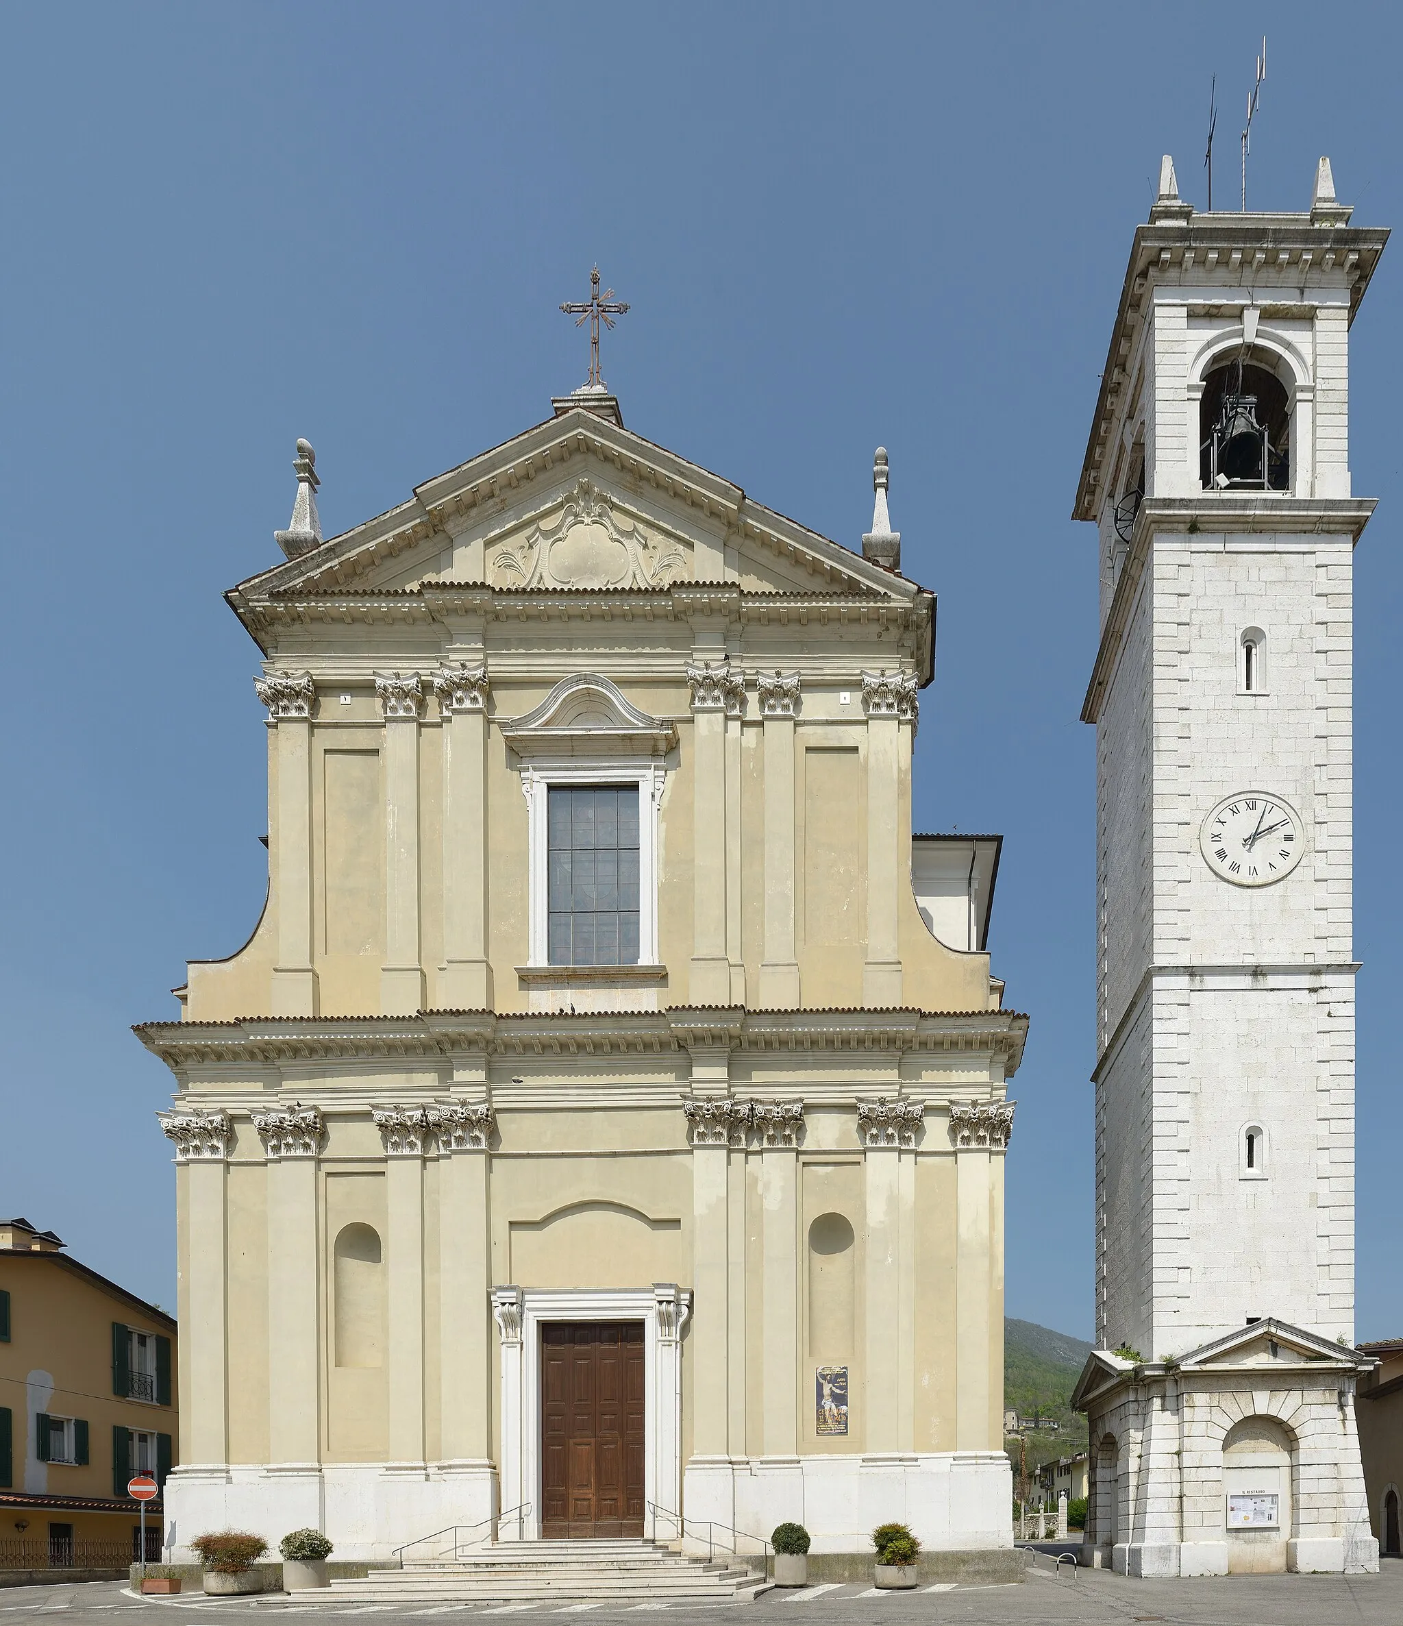
<svg viewBox="0 0 1403 1626">
<path fill-rule="evenodd" d="M 1026 1018 L 997 839 L 912 834 L 935 600 L 886 455 L 862 551 L 600 385 L 328 540 L 296 470 L 228 595 L 267 904 L 138 1029 L 177 1081 L 167 1548 L 1008 1546 Z"/>
</svg>

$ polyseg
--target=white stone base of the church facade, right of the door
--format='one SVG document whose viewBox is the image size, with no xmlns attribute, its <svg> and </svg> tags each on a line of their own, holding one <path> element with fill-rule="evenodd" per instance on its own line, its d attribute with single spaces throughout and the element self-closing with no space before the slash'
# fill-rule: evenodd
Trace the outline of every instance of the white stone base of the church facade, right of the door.
<svg viewBox="0 0 1403 1626">
<path fill-rule="evenodd" d="M 792 1519 L 813 1554 L 863 1553 L 888 1522 L 910 1525 L 932 1553 L 1013 1548 L 1011 1507 L 1001 1450 L 693 1457 L 683 1472 L 688 1522 L 767 1538 Z"/>
</svg>

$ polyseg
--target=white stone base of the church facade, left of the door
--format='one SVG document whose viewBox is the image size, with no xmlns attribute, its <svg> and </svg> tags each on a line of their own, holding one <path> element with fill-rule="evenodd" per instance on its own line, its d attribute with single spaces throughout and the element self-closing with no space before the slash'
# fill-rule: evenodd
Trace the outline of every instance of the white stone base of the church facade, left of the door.
<svg viewBox="0 0 1403 1626">
<path fill-rule="evenodd" d="M 489 1462 L 343 1462 L 180 1467 L 166 1481 L 166 1558 L 195 1561 L 208 1530 L 249 1530 L 276 1554 L 289 1530 L 325 1530 L 343 1563 L 385 1563 L 395 1548 L 463 1527 L 491 1537 L 497 1475 Z M 502 1532 L 507 1535 L 509 1532 Z M 510 1532 L 514 1533 L 514 1532 Z"/>
</svg>

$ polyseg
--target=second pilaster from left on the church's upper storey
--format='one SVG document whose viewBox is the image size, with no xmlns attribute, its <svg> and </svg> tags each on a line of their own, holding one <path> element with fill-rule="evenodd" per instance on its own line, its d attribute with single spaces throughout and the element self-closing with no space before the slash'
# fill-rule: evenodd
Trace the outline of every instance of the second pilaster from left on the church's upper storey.
<svg viewBox="0 0 1403 1626">
<path fill-rule="evenodd" d="M 385 717 L 385 963 L 380 1010 L 411 1016 L 424 1005 L 419 956 L 419 715 L 418 672 L 376 673 Z"/>
</svg>

